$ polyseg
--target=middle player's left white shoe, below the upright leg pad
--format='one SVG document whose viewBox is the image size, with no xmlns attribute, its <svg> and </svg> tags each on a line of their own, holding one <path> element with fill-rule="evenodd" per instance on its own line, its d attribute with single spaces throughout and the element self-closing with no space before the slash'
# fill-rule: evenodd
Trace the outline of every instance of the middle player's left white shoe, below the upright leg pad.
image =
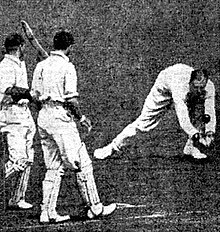
<svg viewBox="0 0 220 232">
<path fill-rule="evenodd" d="M 49 217 L 49 214 L 47 211 L 42 211 L 40 215 L 40 223 L 41 224 L 49 224 L 49 223 L 62 223 L 70 220 L 69 215 L 61 216 L 57 214 L 56 212 L 53 213 L 52 216 Z"/>
</svg>

